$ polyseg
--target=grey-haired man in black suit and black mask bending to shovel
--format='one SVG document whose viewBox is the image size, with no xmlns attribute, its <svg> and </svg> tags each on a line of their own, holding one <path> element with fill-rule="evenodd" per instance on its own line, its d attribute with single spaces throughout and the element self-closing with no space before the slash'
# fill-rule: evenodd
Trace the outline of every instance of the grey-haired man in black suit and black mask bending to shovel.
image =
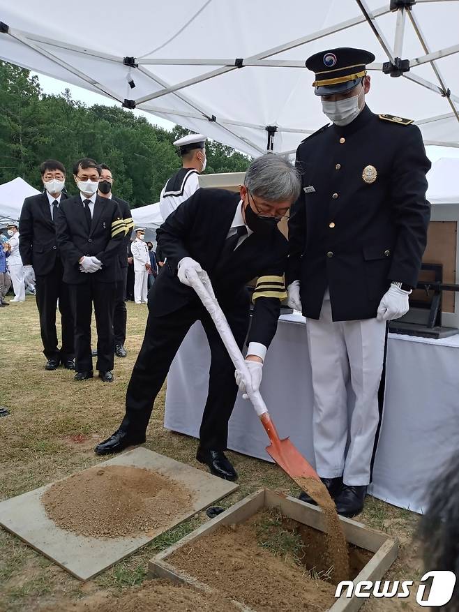
<svg viewBox="0 0 459 612">
<path fill-rule="evenodd" d="M 172 359 L 190 326 L 200 320 L 209 341 L 211 368 L 197 459 L 214 474 L 236 479 L 223 453 L 237 391 L 234 366 L 209 314 L 189 286 L 190 278 L 202 269 L 209 274 L 241 347 L 249 324 L 246 284 L 259 277 L 246 358 L 250 380 L 241 380 L 239 375 L 241 389 L 246 385 L 258 389 L 266 348 L 276 333 L 280 301 L 286 297 L 283 274 L 288 246 L 277 223 L 298 194 L 299 176 L 294 167 L 271 154 L 250 164 L 240 194 L 199 189 L 167 217 L 159 238 L 166 263 L 149 292 L 149 318 L 126 394 L 126 415 L 120 428 L 96 447 L 96 453 L 118 452 L 145 441 L 153 401 Z"/>
</svg>

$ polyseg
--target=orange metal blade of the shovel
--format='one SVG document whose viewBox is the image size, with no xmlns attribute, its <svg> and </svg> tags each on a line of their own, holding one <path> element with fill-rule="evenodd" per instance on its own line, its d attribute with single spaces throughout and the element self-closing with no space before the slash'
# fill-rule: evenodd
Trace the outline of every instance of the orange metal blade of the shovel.
<svg viewBox="0 0 459 612">
<path fill-rule="evenodd" d="M 266 451 L 280 468 L 293 479 L 310 477 L 320 480 L 313 466 L 306 461 L 296 446 L 290 442 L 289 438 L 280 440 L 276 427 L 267 412 L 262 415 L 260 420 L 271 440 L 271 444 L 266 447 Z"/>
</svg>

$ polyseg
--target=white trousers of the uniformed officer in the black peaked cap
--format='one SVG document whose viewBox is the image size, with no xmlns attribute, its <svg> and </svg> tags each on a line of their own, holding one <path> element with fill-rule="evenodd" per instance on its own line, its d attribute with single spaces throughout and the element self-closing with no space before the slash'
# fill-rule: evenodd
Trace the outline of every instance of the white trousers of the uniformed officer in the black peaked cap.
<svg viewBox="0 0 459 612">
<path fill-rule="evenodd" d="M 370 482 L 379 424 L 378 389 L 384 365 L 386 322 L 333 322 L 326 291 L 319 320 L 306 323 L 313 373 L 315 466 L 322 478 L 343 475 L 344 484 Z M 347 385 L 356 396 L 348 416 Z M 346 445 L 349 440 L 349 446 Z"/>
</svg>

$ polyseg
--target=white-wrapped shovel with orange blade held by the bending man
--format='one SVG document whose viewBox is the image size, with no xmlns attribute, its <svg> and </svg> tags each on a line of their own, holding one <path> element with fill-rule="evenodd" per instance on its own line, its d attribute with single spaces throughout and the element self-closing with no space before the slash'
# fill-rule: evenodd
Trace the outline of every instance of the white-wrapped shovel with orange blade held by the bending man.
<svg viewBox="0 0 459 612">
<path fill-rule="evenodd" d="M 230 329 L 230 325 L 226 320 L 225 314 L 220 308 L 215 294 L 213 293 L 212 284 L 206 271 L 203 270 L 199 273 L 193 274 L 193 276 L 190 276 L 189 281 L 190 285 L 200 297 L 202 304 L 204 304 L 206 311 L 208 311 L 209 315 L 211 315 L 218 334 L 220 334 L 220 338 L 222 338 L 223 344 L 225 345 L 228 354 L 230 354 L 234 367 L 236 370 L 243 373 L 245 380 L 250 380 L 250 373 L 246 366 L 246 362 L 244 361 L 239 346 L 234 340 L 234 336 Z M 308 461 L 306 461 L 292 442 L 290 442 L 289 438 L 280 440 L 276 427 L 269 416 L 268 409 L 266 408 L 266 404 L 264 403 L 259 391 L 250 391 L 250 389 L 247 389 L 246 394 L 252 402 L 257 416 L 259 417 L 260 421 L 262 421 L 262 425 L 268 434 L 269 440 L 271 440 L 271 444 L 266 447 L 266 451 L 273 458 L 273 460 L 276 461 L 280 468 L 284 470 L 287 476 L 294 479 L 294 481 L 297 482 L 297 484 L 300 484 L 300 486 L 301 482 L 298 483 L 298 479 L 302 478 L 314 478 L 320 482 L 317 472 L 308 463 Z M 301 486 L 301 488 L 303 488 L 303 486 Z"/>
</svg>

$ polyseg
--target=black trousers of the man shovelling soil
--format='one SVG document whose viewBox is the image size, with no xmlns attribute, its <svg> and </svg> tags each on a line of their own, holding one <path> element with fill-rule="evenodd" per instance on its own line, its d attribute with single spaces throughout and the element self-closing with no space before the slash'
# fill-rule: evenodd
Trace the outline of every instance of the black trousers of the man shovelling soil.
<svg viewBox="0 0 459 612">
<path fill-rule="evenodd" d="M 248 331 L 248 305 L 222 307 L 241 348 Z M 209 392 L 202 415 L 200 445 L 203 449 L 225 450 L 237 386 L 234 366 L 209 314 L 197 301 L 163 317 L 153 315 L 154 305 L 150 299 L 149 309 L 144 341 L 128 385 L 126 415 L 121 428 L 135 437 L 141 438 L 145 434 L 153 402 L 163 386 L 172 359 L 188 329 L 200 320 L 211 350 Z"/>
</svg>

